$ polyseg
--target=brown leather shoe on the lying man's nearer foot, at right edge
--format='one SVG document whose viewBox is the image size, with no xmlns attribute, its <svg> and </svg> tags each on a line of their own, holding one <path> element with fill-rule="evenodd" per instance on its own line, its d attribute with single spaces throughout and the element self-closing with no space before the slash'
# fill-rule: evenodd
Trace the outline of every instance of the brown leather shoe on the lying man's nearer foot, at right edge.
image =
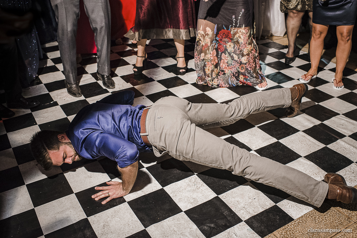
<svg viewBox="0 0 357 238">
<path fill-rule="evenodd" d="M 328 184 L 338 186 L 336 201 L 357 203 L 357 189 L 347 186 L 346 180 L 342 175 L 328 173 L 325 175 L 324 181 Z"/>
</svg>

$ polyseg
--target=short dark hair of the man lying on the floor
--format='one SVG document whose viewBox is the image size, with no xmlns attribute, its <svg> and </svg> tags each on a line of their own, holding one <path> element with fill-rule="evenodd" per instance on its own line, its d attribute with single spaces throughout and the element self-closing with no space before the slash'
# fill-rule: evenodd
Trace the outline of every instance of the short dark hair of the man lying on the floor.
<svg viewBox="0 0 357 238">
<path fill-rule="evenodd" d="M 57 151 L 62 145 L 62 142 L 58 139 L 59 134 L 64 134 L 64 132 L 42 130 L 37 131 L 30 139 L 32 155 L 44 170 L 50 170 L 53 165 L 49 151 Z"/>
</svg>

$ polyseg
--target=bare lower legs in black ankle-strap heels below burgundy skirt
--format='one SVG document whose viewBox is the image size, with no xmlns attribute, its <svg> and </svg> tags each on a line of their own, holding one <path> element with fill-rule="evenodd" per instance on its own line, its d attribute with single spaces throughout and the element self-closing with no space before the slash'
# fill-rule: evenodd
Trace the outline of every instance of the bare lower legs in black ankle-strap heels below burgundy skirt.
<svg viewBox="0 0 357 238">
<path fill-rule="evenodd" d="M 137 67 L 142 67 L 143 62 L 146 58 L 146 52 L 145 52 L 145 45 L 146 45 L 146 40 L 147 39 L 141 39 L 137 42 L 137 56 L 136 57 L 136 63 L 135 65 Z M 175 46 L 177 49 L 177 67 L 184 68 L 186 67 L 186 62 L 185 62 L 185 52 L 183 51 L 185 48 L 185 40 L 179 40 L 179 39 L 174 39 Z M 136 68 L 133 69 L 134 71 L 137 71 Z M 180 72 L 185 72 L 185 69 L 180 69 Z"/>
</svg>

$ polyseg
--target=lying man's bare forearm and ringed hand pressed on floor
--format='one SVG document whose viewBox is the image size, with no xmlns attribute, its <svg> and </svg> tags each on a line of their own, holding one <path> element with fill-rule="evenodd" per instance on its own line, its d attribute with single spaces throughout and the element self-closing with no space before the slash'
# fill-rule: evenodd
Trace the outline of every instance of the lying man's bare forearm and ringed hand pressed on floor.
<svg viewBox="0 0 357 238">
<path fill-rule="evenodd" d="M 96 190 L 102 191 L 93 195 L 92 198 L 95 198 L 95 200 L 100 200 L 101 198 L 107 197 L 107 199 L 102 202 L 102 204 L 105 204 L 113 198 L 118 198 L 127 195 L 130 192 L 132 186 L 134 185 L 137 175 L 137 168 L 137 161 L 134 164 L 131 164 L 124 168 L 120 168 L 118 166 L 118 170 L 121 173 L 122 182 L 109 181 L 107 182 L 107 185 L 110 186 L 95 187 Z"/>
</svg>

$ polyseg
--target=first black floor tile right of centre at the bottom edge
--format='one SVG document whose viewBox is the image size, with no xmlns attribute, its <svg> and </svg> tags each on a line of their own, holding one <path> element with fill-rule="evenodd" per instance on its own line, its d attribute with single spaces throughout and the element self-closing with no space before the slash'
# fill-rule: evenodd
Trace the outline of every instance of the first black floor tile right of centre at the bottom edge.
<svg viewBox="0 0 357 238">
<path fill-rule="evenodd" d="M 219 197 L 190 208 L 185 213 L 207 238 L 242 222 L 242 219 Z"/>
</svg>

